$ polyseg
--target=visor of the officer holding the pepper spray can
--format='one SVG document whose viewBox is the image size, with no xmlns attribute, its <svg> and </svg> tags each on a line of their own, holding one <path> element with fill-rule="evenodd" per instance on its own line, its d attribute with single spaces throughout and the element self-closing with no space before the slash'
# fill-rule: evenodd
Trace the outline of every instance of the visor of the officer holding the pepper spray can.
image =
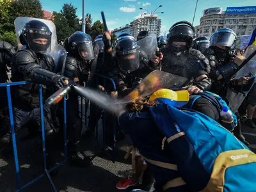
<svg viewBox="0 0 256 192">
<path fill-rule="evenodd" d="M 47 49 L 51 45 L 51 32 L 27 29 L 24 33 L 26 33 L 27 43 L 30 49 L 41 54 L 47 52 Z"/>
</svg>

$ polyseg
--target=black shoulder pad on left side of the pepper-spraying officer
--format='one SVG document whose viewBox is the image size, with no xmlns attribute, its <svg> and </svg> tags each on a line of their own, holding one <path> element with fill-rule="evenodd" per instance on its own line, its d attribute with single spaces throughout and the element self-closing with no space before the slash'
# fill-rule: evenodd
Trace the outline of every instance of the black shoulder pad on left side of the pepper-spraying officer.
<svg viewBox="0 0 256 192">
<path fill-rule="evenodd" d="M 28 63 L 35 63 L 36 55 L 35 52 L 30 51 L 29 49 L 22 49 L 17 52 L 16 63 L 18 65 L 26 65 Z"/>
</svg>

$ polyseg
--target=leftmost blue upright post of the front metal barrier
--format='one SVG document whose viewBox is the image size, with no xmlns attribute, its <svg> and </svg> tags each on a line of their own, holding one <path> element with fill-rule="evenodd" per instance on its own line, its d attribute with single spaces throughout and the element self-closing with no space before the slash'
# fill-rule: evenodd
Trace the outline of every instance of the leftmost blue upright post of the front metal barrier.
<svg viewBox="0 0 256 192">
<path fill-rule="evenodd" d="M 13 154 L 14 154 L 14 161 L 15 161 L 17 186 L 18 186 L 18 189 L 19 189 L 18 191 L 20 191 L 21 190 L 20 167 L 19 167 L 19 160 L 18 160 L 18 153 L 17 153 L 14 122 L 13 122 L 13 111 L 12 111 L 12 99 L 11 99 L 10 86 L 6 86 L 6 92 L 7 92 L 8 108 L 9 108 L 9 116 L 10 116 L 10 127 L 11 127 L 11 132 L 12 132 L 12 147 L 13 147 Z"/>
</svg>

